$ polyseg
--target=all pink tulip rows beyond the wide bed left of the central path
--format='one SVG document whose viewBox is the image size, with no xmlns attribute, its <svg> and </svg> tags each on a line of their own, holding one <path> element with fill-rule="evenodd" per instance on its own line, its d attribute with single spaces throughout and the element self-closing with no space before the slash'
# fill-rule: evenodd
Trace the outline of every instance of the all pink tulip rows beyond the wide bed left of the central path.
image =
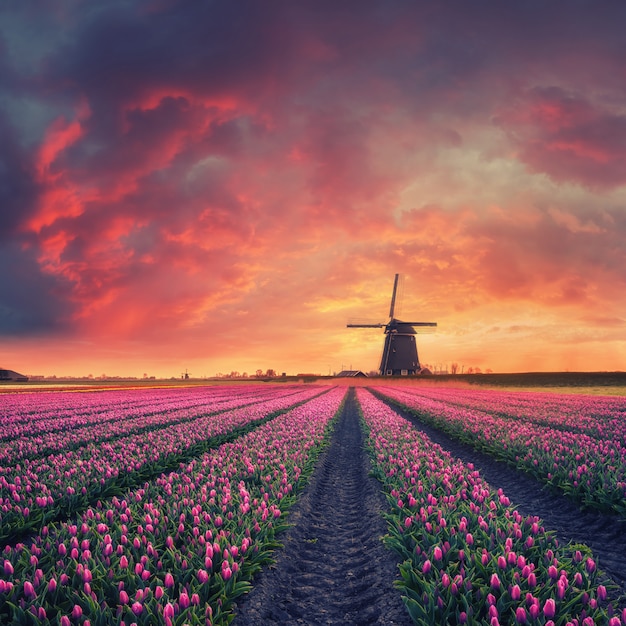
<svg viewBox="0 0 626 626">
<path fill-rule="evenodd" d="M 5 408 L 0 426 L 0 540 L 19 537 L 24 530 L 119 493 L 155 471 L 176 467 L 220 436 L 232 435 L 319 390 L 258 392 L 256 401 L 249 390 L 241 396 L 231 392 L 235 397 L 228 400 L 223 391 L 202 401 L 198 393 L 190 389 L 184 397 L 179 393 L 164 398 L 163 404 L 153 393 L 139 406 L 122 404 L 106 410 L 97 404 L 91 407 L 91 394 L 65 394 L 74 403 L 74 414 L 50 420 L 37 415 L 30 428 L 28 413 L 13 416 Z M 18 397 L 20 404 L 25 400 Z M 95 412 L 85 413 L 88 410 Z M 85 425 L 92 416 L 91 426 Z"/>
</svg>

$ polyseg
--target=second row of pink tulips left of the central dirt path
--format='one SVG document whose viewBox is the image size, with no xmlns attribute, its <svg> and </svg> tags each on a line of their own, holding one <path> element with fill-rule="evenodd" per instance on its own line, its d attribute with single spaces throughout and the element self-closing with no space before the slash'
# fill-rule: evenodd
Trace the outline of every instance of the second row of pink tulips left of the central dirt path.
<svg viewBox="0 0 626 626">
<path fill-rule="evenodd" d="M 173 469 L 316 394 L 319 388 L 304 386 L 296 393 L 276 390 L 271 399 L 243 408 L 208 416 L 201 413 L 195 420 L 132 437 L 89 443 L 0 467 L 0 541 L 15 540 L 98 498 Z"/>
</svg>

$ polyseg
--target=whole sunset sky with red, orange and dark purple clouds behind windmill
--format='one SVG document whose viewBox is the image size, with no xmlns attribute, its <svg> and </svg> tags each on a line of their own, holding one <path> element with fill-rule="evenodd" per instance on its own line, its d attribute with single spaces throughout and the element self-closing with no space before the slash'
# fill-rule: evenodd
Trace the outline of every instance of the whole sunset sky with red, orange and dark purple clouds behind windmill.
<svg viewBox="0 0 626 626">
<path fill-rule="evenodd" d="M 626 370 L 620 0 L 0 5 L 0 368 Z"/>
</svg>

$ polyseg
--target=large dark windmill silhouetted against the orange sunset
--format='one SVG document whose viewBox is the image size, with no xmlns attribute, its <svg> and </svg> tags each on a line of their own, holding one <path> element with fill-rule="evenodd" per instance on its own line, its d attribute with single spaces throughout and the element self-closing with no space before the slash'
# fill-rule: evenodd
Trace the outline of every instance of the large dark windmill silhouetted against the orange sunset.
<svg viewBox="0 0 626 626">
<path fill-rule="evenodd" d="M 398 290 L 399 274 L 393 281 L 393 293 L 391 295 L 391 307 L 389 308 L 389 321 L 375 324 L 348 324 L 348 328 L 384 328 L 385 345 L 380 360 L 380 374 L 382 376 L 410 376 L 414 374 L 430 373 L 423 370 L 418 356 L 415 335 L 419 328 L 433 328 L 436 322 L 402 322 L 396 319 L 394 309 L 396 306 L 396 292 Z"/>
</svg>

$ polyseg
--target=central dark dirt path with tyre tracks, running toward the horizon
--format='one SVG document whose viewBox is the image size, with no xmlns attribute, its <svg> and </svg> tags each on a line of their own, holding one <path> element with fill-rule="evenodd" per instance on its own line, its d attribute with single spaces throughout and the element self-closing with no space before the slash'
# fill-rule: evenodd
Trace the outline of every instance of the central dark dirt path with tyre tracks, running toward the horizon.
<svg viewBox="0 0 626 626">
<path fill-rule="evenodd" d="M 385 501 L 369 469 L 350 390 L 332 442 L 290 513 L 285 547 L 239 603 L 235 626 L 412 623 L 392 585 L 397 561 L 380 540 Z"/>
</svg>

